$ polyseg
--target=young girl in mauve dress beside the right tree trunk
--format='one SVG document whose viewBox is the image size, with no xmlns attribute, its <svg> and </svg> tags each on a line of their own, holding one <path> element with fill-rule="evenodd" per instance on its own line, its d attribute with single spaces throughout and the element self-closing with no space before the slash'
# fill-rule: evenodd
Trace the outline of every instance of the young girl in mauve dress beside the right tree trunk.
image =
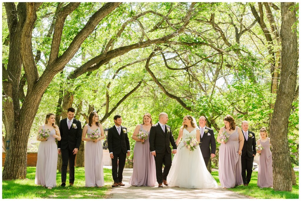
<svg viewBox="0 0 301 201">
<path fill-rule="evenodd" d="M 257 151 L 257 153 L 260 153 L 257 186 L 260 188 L 270 188 L 273 187 L 272 152 L 270 149 L 271 140 L 265 127 L 260 129 L 260 139 L 257 140 L 258 144 L 261 144 L 263 149 Z"/>
</svg>

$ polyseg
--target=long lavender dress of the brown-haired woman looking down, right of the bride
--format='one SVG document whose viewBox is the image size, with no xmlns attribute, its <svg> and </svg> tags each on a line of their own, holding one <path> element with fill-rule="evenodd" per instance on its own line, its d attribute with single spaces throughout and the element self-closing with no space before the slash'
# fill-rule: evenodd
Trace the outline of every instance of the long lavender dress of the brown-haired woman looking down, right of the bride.
<svg viewBox="0 0 301 201">
<path fill-rule="evenodd" d="M 222 187 L 234 188 L 243 184 L 241 176 L 241 155 L 238 154 L 239 140 L 237 127 L 228 142 L 219 147 L 219 181 Z"/>
</svg>

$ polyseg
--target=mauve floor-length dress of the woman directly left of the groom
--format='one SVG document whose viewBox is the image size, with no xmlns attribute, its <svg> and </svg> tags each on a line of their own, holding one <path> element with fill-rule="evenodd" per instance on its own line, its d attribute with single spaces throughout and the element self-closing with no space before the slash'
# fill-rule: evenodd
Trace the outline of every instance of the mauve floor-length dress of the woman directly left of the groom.
<svg viewBox="0 0 301 201">
<path fill-rule="evenodd" d="M 140 129 L 147 132 L 140 125 Z M 148 136 L 149 136 L 149 132 Z M 136 141 L 134 148 L 134 167 L 129 184 L 133 186 L 154 186 L 156 183 L 156 166 L 155 159 L 150 152 L 150 144 L 144 140 L 142 144 Z"/>
</svg>

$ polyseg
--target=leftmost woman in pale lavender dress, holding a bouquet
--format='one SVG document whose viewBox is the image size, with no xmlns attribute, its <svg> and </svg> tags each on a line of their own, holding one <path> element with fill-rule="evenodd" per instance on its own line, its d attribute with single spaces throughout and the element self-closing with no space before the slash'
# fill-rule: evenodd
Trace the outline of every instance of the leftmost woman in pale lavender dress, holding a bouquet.
<svg viewBox="0 0 301 201">
<path fill-rule="evenodd" d="M 37 140 L 41 142 L 38 149 L 35 184 L 52 189 L 56 186 L 57 172 L 57 144 L 55 139 L 61 140 L 54 114 L 48 113 L 46 115 L 45 124 L 39 127 L 39 132 L 41 129 L 49 129 L 50 134 L 47 138 L 40 138 L 39 133 L 37 135 Z"/>
</svg>

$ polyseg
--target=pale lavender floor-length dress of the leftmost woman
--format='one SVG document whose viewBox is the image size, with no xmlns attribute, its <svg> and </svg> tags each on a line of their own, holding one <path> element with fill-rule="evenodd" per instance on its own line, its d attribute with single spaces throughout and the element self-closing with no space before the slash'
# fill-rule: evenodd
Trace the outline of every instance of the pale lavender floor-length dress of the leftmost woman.
<svg viewBox="0 0 301 201">
<path fill-rule="evenodd" d="M 45 129 L 45 125 L 43 125 Z M 46 187 L 56 186 L 57 172 L 57 144 L 55 143 L 55 130 L 50 131 L 46 141 L 41 141 L 38 149 L 35 184 Z"/>
</svg>

